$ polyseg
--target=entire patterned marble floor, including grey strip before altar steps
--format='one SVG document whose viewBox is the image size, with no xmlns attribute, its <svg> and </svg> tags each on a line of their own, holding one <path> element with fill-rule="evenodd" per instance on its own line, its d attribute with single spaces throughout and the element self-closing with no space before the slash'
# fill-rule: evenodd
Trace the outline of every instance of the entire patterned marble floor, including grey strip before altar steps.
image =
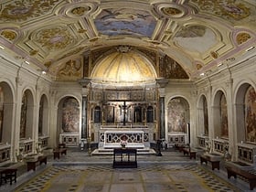
<svg viewBox="0 0 256 192">
<path fill-rule="evenodd" d="M 48 165 L 25 172 L 15 185 L 0 187 L 14 192 L 186 192 L 250 191 L 240 179 L 228 179 L 225 170 L 211 170 L 176 151 L 163 156 L 139 155 L 138 168 L 112 168 L 112 156 L 91 156 L 68 150 Z M 241 183 L 243 182 L 243 183 Z M 252 190 L 256 191 L 256 189 Z"/>
</svg>

